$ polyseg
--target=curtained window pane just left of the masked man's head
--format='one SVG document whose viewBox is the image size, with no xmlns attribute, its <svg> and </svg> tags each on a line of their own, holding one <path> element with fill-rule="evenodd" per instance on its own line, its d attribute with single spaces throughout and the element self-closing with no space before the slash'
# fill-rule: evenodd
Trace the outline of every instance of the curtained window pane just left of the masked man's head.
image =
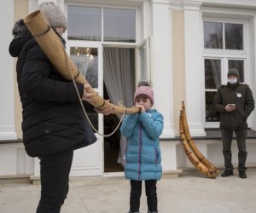
<svg viewBox="0 0 256 213">
<path fill-rule="evenodd" d="M 205 88 L 218 89 L 221 84 L 221 60 L 205 60 Z"/>
</svg>

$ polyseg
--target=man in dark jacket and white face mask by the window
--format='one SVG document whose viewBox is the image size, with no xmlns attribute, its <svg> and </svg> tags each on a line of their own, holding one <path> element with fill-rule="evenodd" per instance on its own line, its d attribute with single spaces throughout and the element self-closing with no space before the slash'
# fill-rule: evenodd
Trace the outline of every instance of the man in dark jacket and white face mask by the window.
<svg viewBox="0 0 256 213">
<path fill-rule="evenodd" d="M 223 141 L 225 170 L 221 176 L 233 176 L 231 142 L 236 133 L 238 147 L 238 170 L 241 178 L 247 178 L 247 118 L 254 109 L 252 90 L 239 82 L 239 72 L 235 68 L 228 72 L 228 83 L 221 85 L 215 95 L 213 107 L 220 112 L 220 129 Z"/>
</svg>

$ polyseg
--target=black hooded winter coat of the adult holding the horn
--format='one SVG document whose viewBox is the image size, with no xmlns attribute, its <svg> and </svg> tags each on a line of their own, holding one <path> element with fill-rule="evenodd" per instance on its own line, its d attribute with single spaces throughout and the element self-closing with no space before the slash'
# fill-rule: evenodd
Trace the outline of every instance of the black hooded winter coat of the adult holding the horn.
<svg viewBox="0 0 256 213">
<path fill-rule="evenodd" d="M 41 157 L 88 146 L 96 141 L 79 104 L 73 82 L 67 82 L 48 60 L 23 20 L 16 22 L 9 53 L 18 57 L 17 81 L 22 103 L 26 153 Z M 84 86 L 77 83 L 80 97 Z"/>
</svg>

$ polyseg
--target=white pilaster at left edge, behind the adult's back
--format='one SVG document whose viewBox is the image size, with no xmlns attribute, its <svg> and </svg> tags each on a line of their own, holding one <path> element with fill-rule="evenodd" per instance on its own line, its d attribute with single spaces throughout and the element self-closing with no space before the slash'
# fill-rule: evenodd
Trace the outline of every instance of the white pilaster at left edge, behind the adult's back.
<svg viewBox="0 0 256 213">
<path fill-rule="evenodd" d="M 0 39 L 0 140 L 17 139 L 15 131 L 15 86 L 14 86 L 14 59 L 9 55 L 9 43 L 11 42 L 12 28 L 14 26 L 14 1 L 6 1 L 4 7 L 0 7 L 1 39 Z"/>
</svg>

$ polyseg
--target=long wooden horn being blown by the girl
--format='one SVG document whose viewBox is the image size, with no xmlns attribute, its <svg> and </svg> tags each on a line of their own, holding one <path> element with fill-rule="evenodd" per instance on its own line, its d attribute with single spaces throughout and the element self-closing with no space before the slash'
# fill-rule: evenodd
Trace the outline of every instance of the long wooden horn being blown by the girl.
<svg viewBox="0 0 256 213">
<path fill-rule="evenodd" d="M 28 14 L 24 23 L 32 33 L 32 36 L 37 40 L 41 49 L 43 49 L 44 54 L 47 55 L 63 78 L 67 80 L 72 80 L 74 78 L 78 83 L 89 84 L 79 72 L 77 66 L 73 64 L 73 61 L 67 55 L 60 38 L 57 37 L 53 29 L 49 26 L 48 20 L 40 10 Z M 138 107 L 125 108 L 115 106 L 109 101 L 105 101 L 101 95 L 96 93 L 95 89 L 88 89 L 88 92 L 92 94 L 90 97 L 90 104 L 94 107 L 101 109 L 113 107 L 114 114 L 123 114 L 124 112 L 132 114 L 140 111 Z"/>
</svg>

